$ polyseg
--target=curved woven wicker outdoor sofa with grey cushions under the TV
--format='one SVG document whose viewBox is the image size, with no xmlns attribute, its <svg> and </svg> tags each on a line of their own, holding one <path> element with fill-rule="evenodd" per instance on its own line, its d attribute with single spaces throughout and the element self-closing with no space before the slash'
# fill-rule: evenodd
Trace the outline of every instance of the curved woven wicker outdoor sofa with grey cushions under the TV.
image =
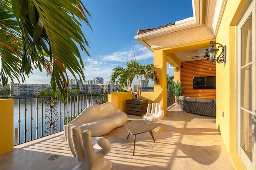
<svg viewBox="0 0 256 170">
<path fill-rule="evenodd" d="M 178 101 L 183 111 L 197 115 L 216 117 L 216 99 L 180 96 Z"/>
</svg>

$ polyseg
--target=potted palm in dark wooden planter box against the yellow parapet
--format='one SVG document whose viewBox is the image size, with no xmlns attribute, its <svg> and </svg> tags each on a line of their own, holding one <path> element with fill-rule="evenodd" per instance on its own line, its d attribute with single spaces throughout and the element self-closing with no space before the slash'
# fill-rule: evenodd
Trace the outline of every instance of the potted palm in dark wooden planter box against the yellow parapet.
<svg viewBox="0 0 256 170">
<path fill-rule="evenodd" d="M 146 113 L 148 100 L 140 99 L 142 77 L 144 77 L 144 81 L 146 82 L 153 80 L 159 84 L 156 71 L 157 68 L 152 63 L 147 65 L 141 65 L 138 63 L 136 61 L 135 54 L 134 59 L 128 61 L 125 67 L 118 66 L 112 70 L 112 75 L 110 76 L 111 83 L 114 84 L 117 79 L 120 87 L 130 87 L 132 99 L 126 100 L 127 114 L 141 116 Z M 132 90 L 132 82 L 134 79 L 137 79 L 137 93 L 134 93 Z"/>
</svg>

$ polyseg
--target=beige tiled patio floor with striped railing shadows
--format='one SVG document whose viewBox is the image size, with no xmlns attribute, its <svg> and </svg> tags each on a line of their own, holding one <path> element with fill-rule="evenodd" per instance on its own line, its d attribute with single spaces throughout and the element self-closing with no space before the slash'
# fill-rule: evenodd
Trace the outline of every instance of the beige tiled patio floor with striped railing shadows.
<svg viewBox="0 0 256 170">
<path fill-rule="evenodd" d="M 143 121 L 128 115 L 129 120 Z M 168 109 L 160 121 L 161 129 L 127 138 L 125 126 L 104 135 L 110 140 L 111 152 L 105 156 L 113 162 L 113 170 L 234 170 L 228 152 L 212 117 L 198 116 L 180 110 L 179 105 Z M 48 160 L 53 155 L 55 160 Z M 1 170 L 71 170 L 79 164 L 69 151 L 63 132 L 15 147 L 0 156 Z"/>
</svg>

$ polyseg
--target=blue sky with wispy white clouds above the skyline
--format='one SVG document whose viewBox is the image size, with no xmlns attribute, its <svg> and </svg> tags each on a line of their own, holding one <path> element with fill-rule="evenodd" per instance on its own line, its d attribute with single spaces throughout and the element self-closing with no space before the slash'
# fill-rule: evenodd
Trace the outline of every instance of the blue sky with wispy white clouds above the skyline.
<svg viewBox="0 0 256 170">
<path fill-rule="evenodd" d="M 91 57 L 84 51 L 86 80 L 94 77 L 109 81 L 112 69 L 124 67 L 127 60 L 134 59 L 146 65 L 153 63 L 153 52 L 134 39 L 137 30 L 158 28 L 168 23 L 193 16 L 191 0 L 82 0 L 92 18 L 88 18 L 93 32 L 86 23 L 82 31 L 90 45 L 87 47 Z M 26 83 L 50 83 L 46 73 L 33 71 Z M 167 73 L 173 74 L 172 69 Z M 69 75 L 69 79 L 74 79 Z M 135 81 L 134 81 L 135 83 Z M 150 83 L 152 86 L 153 83 Z"/>
</svg>

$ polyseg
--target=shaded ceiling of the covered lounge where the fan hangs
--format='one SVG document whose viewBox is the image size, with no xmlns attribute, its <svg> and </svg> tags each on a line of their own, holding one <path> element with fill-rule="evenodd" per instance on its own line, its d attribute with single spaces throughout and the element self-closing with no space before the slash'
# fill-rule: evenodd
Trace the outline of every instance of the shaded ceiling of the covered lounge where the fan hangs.
<svg viewBox="0 0 256 170">
<path fill-rule="evenodd" d="M 210 45 L 209 45 L 209 47 L 210 47 Z M 178 53 L 174 53 L 174 55 L 176 55 L 176 57 L 181 62 L 200 60 L 202 58 L 195 59 L 195 57 L 193 58 L 192 56 L 205 55 L 206 49 L 208 49 L 208 48 L 195 49 L 195 50 L 191 50 L 191 51 L 181 51 Z M 204 58 L 204 59 L 206 59 L 206 58 Z"/>
</svg>

